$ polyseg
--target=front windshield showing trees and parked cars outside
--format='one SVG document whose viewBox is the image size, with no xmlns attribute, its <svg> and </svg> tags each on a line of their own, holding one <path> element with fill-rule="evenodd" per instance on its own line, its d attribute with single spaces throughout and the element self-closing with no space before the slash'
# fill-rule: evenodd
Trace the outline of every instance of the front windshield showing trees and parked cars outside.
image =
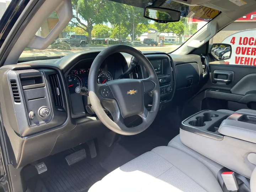
<svg viewBox="0 0 256 192">
<path fill-rule="evenodd" d="M 178 22 L 157 23 L 143 17 L 143 8 L 127 4 L 109 0 L 72 0 L 73 18 L 62 33 L 47 49 L 26 48 L 20 60 L 103 50 L 115 44 L 126 44 L 141 51 L 169 53 L 219 14 L 219 11 L 205 6 L 187 6 L 168 0 L 162 7 L 180 11 L 181 19 Z M 58 15 L 53 12 L 36 35 L 47 37 L 58 21 Z"/>
</svg>

